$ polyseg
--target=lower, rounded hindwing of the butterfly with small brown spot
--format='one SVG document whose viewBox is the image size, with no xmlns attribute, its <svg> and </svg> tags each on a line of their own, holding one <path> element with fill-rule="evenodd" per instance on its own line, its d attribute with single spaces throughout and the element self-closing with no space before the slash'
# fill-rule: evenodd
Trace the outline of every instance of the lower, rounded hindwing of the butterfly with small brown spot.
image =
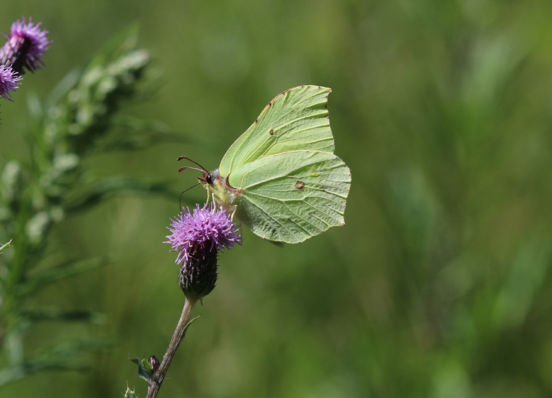
<svg viewBox="0 0 552 398">
<path fill-rule="evenodd" d="M 239 190 L 239 221 L 259 237 L 299 243 L 344 225 L 351 170 L 333 153 L 295 150 L 246 163 L 228 183 Z"/>
</svg>

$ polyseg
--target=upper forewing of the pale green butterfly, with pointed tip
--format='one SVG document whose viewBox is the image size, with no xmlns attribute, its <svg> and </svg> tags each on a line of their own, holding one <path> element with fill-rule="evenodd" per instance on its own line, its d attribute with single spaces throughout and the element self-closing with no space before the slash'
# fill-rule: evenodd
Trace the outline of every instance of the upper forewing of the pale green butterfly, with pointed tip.
<svg viewBox="0 0 552 398">
<path fill-rule="evenodd" d="M 270 101 L 261 115 L 228 149 L 220 163 L 226 177 L 246 163 L 293 150 L 333 153 L 326 103 L 331 89 L 290 88 Z"/>
</svg>

